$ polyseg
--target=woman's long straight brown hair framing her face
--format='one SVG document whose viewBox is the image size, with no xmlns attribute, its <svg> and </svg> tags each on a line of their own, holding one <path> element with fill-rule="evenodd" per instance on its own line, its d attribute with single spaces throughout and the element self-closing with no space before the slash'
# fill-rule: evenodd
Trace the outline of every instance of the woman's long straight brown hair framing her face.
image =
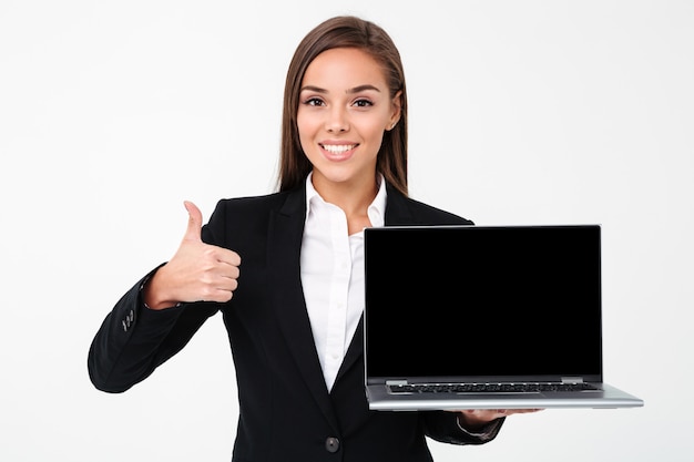
<svg viewBox="0 0 694 462">
<path fill-rule="evenodd" d="M 407 195 L 407 92 L 400 53 L 384 29 L 350 16 L 328 19 L 308 32 L 289 63 L 282 116 L 279 191 L 298 186 L 313 168 L 299 142 L 296 122 L 299 92 L 306 68 L 318 54 L 335 48 L 357 48 L 367 52 L 384 66 L 390 97 L 401 92 L 400 119 L 392 130 L 384 134 L 376 170 L 397 191 Z"/>
</svg>

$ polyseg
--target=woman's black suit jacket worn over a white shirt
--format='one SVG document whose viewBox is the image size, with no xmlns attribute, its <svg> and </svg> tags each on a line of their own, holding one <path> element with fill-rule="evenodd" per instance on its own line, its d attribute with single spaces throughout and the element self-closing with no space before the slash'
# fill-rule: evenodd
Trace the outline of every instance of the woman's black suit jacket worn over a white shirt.
<svg viewBox="0 0 694 462">
<path fill-rule="evenodd" d="M 108 315 L 89 352 L 103 391 L 122 392 L 180 351 L 222 311 L 234 358 L 239 420 L 234 461 L 431 461 L 425 435 L 456 444 L 493 439 L 461 431 L 451 412 L 369 411 L 364 390 L 361 322 L 328 393 L 313 340 L 299 274 L 306 217 L 300 187 L 223 199 L 203 240 L 242 257 L 238 288 L 227 304 L 196 302 L 161 311 L 129 290 Z M 471 224 L 405 197 L 388 186 L 386 225 Z"/>
</svg>

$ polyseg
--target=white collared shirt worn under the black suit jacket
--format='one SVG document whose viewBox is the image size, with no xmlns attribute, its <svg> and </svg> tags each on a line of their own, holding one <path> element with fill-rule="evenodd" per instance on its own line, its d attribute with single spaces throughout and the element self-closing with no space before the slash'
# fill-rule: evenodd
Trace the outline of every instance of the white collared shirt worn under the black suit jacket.
<svg viewBox="0 0 694 462">
<path fill-rule="evenodd" d="M 364 311 L 364 230 L 348 235 L 345 213 L 320 197 L 312 176 L 306 179 L 302 285 L 329 391 Z M 385 224 L 386 182 L 380 175 L 378 183 L 367 211 L 374 227 Z"/>
</svg>

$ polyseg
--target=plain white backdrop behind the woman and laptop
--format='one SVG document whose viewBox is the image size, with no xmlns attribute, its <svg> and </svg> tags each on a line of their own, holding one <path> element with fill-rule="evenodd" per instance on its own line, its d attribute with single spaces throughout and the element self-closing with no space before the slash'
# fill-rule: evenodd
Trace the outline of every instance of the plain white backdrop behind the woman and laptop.
<svg viewBox="0 0 694 462">
<path fill-rule="evenodd" d="M 602 224 L 604 370 L 645 401 L 514 415 L 490 444 L 432 443 L 437 462 L 694 460 L 694 3 L 335 3 L 0 2 L 0 460 L 229 460 L 220 316 L 123 394 L 91 386 L 88 348 L 175 251 L 184 199 L 207 219 L 273 191 L 287 64 L 341 13 L 402 54 L 412 197 L 480 225 Z M 462 353 L 504 335 L 474 328 L 489 345 Z"/>
</svg>

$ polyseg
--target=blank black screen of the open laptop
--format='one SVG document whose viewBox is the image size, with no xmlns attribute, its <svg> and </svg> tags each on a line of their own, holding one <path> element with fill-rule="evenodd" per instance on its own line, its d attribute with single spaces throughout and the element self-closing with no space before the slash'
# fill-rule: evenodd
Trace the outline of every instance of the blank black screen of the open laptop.
<svg viewBox="0 0 694 462">
<path fill-rule="evenodd" d="M 600 374 L 600 227 L 367 228 L 367 373 Z"/>
</svg>

